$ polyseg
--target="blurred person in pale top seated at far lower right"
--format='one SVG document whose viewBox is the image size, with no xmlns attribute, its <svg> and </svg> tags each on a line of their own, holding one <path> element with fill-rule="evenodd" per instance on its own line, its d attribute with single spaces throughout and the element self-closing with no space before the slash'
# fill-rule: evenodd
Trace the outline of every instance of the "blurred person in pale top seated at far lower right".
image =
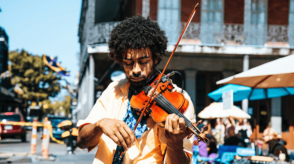
<svg viewBox="0 0 294 164">
<path fill-rule="evenodd" d="M 263 141 L 269 145 L 269 156 L 278 157 L 280 153 L 286 155 L 286 161 L 289 160 L 289 155 L 287 149 L 278 141 L 278 134 L 273 128 L 266 128 L 263 131 Z"/>
</svg>

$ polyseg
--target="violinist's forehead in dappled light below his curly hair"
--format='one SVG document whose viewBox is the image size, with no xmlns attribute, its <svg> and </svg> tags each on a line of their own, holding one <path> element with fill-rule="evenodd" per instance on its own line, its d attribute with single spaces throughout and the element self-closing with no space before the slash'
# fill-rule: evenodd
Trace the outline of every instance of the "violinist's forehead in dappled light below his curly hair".
<svg viewBox="0 0 294 164">
<path fill-rule="evenodd" d="M 152 52 L 149 47 L 141 49 L 128 48 L 122 53 L 122 56 L 125 60 L 140 60 L 144 58 L 152 58 Z"/>
</svg>

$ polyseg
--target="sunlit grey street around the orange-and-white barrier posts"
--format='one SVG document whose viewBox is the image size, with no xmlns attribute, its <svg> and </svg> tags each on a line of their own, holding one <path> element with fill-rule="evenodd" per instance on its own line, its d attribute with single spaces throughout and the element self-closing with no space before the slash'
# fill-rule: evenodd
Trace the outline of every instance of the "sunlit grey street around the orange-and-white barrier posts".
<svg viewBox="0 0 294 164">
<path fill-rule="evenodd" d="M 86 149 L 76 148 L 75 153 L 69 155 L 66 151 L 66 144 L 59 144 L 51 141 L 49 144 L 49 159 L 42 159 L 41 155 L 42 139 L 37 135 L 36 155 L 31 155 L 31 131 L 27 131 L 27 142 L 21 139 L 6 138 L 0 142 L 0 157 L 11 158 L 12 163 L 60 163 L 60 164 L 91 164 L 95 157 L 96 149 L 87 153 Z M 31 162 L 30 162 L 31 159 Z M 0 162 L 6 163 L 6 162 Z"/>
</svg>

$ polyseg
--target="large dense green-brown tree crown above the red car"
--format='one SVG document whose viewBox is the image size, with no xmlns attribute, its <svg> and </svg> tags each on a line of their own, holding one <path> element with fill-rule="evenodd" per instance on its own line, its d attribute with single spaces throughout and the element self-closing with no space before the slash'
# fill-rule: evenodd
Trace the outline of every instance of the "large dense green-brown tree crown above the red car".
<svg viewBox="0 0 294 164">
<path fill-rule="evenodd" d="M 51 70 L 38 55 L 21 52 L 9 52 L 12 74 L 11 84 L 23 90 L 19 97 L 27 101 L 44 101 L 48 97 L 55 97 L 60 92 L 60 75 Z"/>
</svg>

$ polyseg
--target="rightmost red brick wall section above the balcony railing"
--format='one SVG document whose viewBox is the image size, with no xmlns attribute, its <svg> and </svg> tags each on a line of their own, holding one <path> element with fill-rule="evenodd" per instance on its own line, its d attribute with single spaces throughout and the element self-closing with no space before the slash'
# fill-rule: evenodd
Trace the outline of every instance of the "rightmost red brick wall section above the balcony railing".
<svg viewBox="0 0 294 164">
<path fill-rule="evenodd" d="M 268 0 L 268 24 L 288 25 L 289 0 Z"/>
</svg>

